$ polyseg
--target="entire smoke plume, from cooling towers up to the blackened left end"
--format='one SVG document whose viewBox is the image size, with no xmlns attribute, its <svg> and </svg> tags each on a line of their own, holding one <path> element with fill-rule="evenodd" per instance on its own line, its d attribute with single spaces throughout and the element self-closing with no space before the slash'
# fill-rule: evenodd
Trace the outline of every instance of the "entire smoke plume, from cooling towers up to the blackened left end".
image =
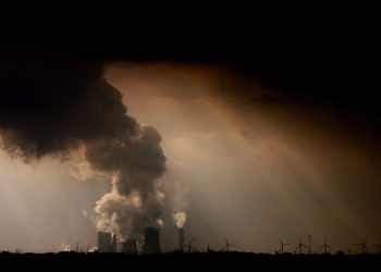
<svg viewBox="0 0 381 272">
<path fill-rule="evenodd" d="M 113 175 L 96 207 L 99 230 L 139 236 L 161 225 L 161 136 L 127 115 L 121 94 L 102 78 L 102 64 L 33 51 L 8 55 L 0 66 L 2 148 L 25 161 L 66 158 L 85 147 L 90 165 Z"/>
</svg>

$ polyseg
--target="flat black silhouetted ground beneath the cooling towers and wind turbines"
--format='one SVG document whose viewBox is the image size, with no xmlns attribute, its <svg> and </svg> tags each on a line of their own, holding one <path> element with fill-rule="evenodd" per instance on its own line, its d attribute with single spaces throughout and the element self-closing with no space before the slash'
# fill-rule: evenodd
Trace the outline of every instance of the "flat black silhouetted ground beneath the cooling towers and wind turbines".
<svg viewBox="0 0 381 272">
<path fill-rule="evenodd" d="M 156 268 L 168 270 L 216 270 L 216 269 L 293 269 L 342 270 L 355 267 L 373 268 L 381 264 L 381 255 L 268 255 L 245 252 L 209 252 L 209 254 L 162 254 L 152 256 L 126 256 L 122 254 L 0 254 L 0 263 L 27 269 L 113 269 L 113 268 Z M 372 267 L 371 267 L 372 265 Z M 124 270 L 124 269 L 122 269 Z"/>
</svg>

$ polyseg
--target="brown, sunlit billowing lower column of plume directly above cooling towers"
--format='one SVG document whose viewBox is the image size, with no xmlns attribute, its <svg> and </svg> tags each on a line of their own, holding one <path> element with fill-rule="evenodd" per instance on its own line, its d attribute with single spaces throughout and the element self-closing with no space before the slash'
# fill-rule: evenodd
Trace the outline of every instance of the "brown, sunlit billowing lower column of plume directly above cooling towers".
<svg viewBox="0 0 381 272">
<path fill-rule="evenodd" d="M 98 230 L 138 238 L 145 226 L 161 226 L 160 177 L 165 158 L 160 140 L 153 127 L 139 126 L 134 137 L 88 145 L 86 157 L 91 165 L 114 173 L 112 191 L 97 201 Z"/>
</svg>

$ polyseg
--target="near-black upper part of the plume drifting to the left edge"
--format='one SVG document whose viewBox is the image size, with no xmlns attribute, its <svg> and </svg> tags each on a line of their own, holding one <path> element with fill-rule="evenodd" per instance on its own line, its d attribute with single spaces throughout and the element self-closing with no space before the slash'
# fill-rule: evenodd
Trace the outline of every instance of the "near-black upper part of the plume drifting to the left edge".
<svg viewBox="0 0 381 272">
<path fill-rule="evenodd" d="M 2 63 L 0 129 L 4 148 L 26 159 L 62 153 L 81 140 L 134 134 L 120 92 L 100 64 L 42 58 Z"/>
</svg>

